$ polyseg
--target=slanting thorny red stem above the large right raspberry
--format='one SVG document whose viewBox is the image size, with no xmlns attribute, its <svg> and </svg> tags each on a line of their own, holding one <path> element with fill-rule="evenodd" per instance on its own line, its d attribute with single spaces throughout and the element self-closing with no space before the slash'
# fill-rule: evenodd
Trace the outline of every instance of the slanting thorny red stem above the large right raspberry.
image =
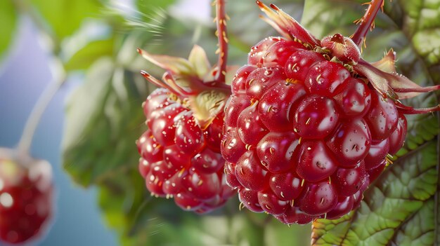
<svg viewBox="0 0 440 246">
<path fill-rule="evenodd" d="M 368 29 L 373 29 L 377 12 L 380 8 L 383 10 L 384 0 L 371 0 L 363 5 L 366 4 L 369 5 L 368 9 L 361 19 L 355 21 L 356 23 L 360 23 L 360 25 L 351 36 L 351 40 L 353 40 L 358 47 L 361 47 L 362 43 L 365 43 L 365 36 L 367 36 Z"/>
</svg>

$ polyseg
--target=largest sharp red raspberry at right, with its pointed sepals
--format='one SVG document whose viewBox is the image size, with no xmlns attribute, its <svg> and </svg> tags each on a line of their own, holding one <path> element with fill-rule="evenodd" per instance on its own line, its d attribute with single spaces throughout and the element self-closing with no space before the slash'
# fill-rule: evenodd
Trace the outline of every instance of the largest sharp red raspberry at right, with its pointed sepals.
<svg viewBox="0 0 440 246">
<path fill-rule="evenodd" d="M 398 99 L 438 88 L 377 69 L 351 39 L 319 41 L 276 6 L 257 4 L 285 38 L 252 47 L 233 78 L 221 144 L 226 180 L 242 205 L 285 224 L 337 219 L 360 205 L 403 145 L 404 114 L 439 110 Z"/>
</svg>

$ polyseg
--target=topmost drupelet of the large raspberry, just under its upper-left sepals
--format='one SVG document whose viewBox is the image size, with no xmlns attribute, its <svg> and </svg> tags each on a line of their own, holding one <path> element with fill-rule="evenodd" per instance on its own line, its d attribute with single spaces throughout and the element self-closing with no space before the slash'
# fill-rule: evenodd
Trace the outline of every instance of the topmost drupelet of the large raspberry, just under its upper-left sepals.
<svg viewBox="0 0 440 246">
<path fill-rule="evenodd" d="M 284 66 L 287 59 L 298 50 L 304 50 L 305 47 L 295 41 L 280 40 L 273 43 L 263 57 L 264 67 Z"/>
</svg>

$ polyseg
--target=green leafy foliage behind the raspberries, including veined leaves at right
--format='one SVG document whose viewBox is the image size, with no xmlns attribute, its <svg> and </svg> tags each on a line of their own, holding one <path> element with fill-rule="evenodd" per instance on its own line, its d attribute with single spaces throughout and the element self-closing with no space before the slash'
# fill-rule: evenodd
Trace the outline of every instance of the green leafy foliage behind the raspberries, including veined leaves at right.
<svg viewBox="0 0 440 246">
<path fill-rule="evenodd" d="M 270 3 L 302 20 L 318 38 L 352 34 L 352 22 L 365 11 L 356 0 Z M 392 47 L 399 72 L 422 85 L 439 83 L 439 6 L 438 1 L 387 1 L 368 36 L 366 60 L 379 60 Z M 229 1 L 227 12 L 228 64 L 242 65 L 252 44 L 276 32 L 259 20 L 253 0 Z M 163 71 L 136 48 L 188 57 L 197 43 L 214 64 L 213 13 L 206 0 L 2 0 L 0 59 L 26 15 L 58 64 L 53 73 L 82 78 L 67 99 L 63 166 L 77 184 L 98 188 L 103 219 L 122 245 L 309 245 L 310 226 L 287 227 L 266 214 L 239 211 L 237 198 L 203 216 L 183 212 L 172 200 L 151 197 L 138 175 L 134 142 L 146 128 L 141 104 L 154 89 L 139 71 L 157 77 Z M 55 78 L 63 83 L 66 77 Z M 435 103 L 434 95 L 408 100 L 417 107 Z M 439 244 L 438 134 L 435 114 L 410 116 L 408 140 L 395 164 L 370 186 L 360 209 L 337 221 L 316 221 L 313 244 Z"/>
</svg>

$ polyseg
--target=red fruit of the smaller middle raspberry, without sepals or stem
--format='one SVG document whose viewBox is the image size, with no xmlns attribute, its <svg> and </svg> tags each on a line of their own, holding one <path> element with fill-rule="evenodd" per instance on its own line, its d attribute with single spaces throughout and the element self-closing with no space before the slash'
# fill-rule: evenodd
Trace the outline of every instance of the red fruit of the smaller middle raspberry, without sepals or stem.
<svg viewBox="0 0 440 246">
<path fill-rule="evenodd" d="M 183 210 L 204 213 L 223 205 L 233 195 L 220 154 L 223 115 L 202 130 L 185 97 L 164 88 L 148 96 L 143 111 L 150 130 L 137 144 L 148 190 L 174 198 Z"/>
</svg>

